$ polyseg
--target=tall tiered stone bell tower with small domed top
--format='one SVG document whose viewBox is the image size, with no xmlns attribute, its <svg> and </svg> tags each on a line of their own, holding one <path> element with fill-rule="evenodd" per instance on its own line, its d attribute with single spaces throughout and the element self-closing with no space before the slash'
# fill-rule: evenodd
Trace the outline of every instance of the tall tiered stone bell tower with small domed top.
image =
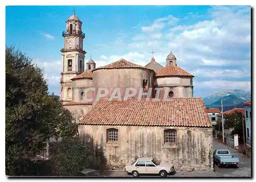
<svg viewBox="0 0 256 182">
<path fill-rule="evenodd" d="M 60 79 L 60 100 L 63 103 L 72 101 L 72 79 L 74 76 L 84 71 L 83 39 L 86 37 L 82 33 L 82 22 L 75 12 L 66 21 L 66 31 L 62 32 L 64 38 L 64 48 L 61 52 L 61 79 Z"/>
</svg>

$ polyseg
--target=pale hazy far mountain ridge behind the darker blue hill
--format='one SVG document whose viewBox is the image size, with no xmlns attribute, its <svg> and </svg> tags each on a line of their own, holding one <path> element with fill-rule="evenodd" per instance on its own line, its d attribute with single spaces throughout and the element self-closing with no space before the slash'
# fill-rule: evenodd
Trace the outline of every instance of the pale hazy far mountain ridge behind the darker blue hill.
<svg viewBox="0 0 256 182">
<path fill-rule="evenodd" d="M 215 102 L 218 102 L 219 99 L 225 96 L 236 96 L 236 98 L 240 99 L 241 102 L 245 102 L 251 99 L 251 92 L 250 91 L 245 91 L 245 90 L 223 90 L 221 92 L 214 93 L 208 97 L 203 98 L 205 105 L 211 105 L 214 104 Z M 230 99 L 235 98 L 235 97 L 230 97 Z M 238 100 L 237 100 L 238 101 Z M 229 100 L 229 102 L 231 102 Z M 236 102 L 236 100 L 234 100 Z"/>
</svg>

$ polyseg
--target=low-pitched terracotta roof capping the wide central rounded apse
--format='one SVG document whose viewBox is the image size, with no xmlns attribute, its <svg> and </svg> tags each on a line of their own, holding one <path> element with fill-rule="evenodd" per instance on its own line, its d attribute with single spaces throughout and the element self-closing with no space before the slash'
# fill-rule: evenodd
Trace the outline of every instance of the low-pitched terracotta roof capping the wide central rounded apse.
<svg viewBox="0 0 256 182">
<path fill-rule="evenodd" d="M 95 68 L 95 69 L 93 69 L 93 71 L 98 70 L 98 69 L 122 69 L 122 68 L 128 68 L 128 69 L 131 69 L 131 68 L 143 68 L 143 69 L 152 70 L 150 68 L 146 68 L 144 66 L 140 66 L 140 65 L 131 63 L 131 62 L 126 61 L 124 59 L 120 59 L 119 61 L 116 61 L 114 63 L 111 63 L 111 64 L 108 64 L 108 65 L 105 65 L 105 66 L 101 66 L 101 67 Z"/>
</svg>

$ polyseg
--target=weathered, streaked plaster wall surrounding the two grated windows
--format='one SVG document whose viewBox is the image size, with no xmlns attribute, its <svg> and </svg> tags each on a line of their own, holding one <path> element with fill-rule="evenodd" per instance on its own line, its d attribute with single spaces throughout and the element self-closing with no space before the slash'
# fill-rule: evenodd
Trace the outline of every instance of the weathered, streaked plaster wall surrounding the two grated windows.
<svg viewBox="0 0 256 182">
<path fill-rule="evenodd" d="M 106 129 L 118 129 L 118 142 L 106 142 Z M 177 130 L 177 144 L 164 143 L 164 129 Z M 139 157 L 173 163 L 176 171 L 213 171 L 212 128 L 79 125 L 79 137 L 95 154 L 95 165 L 123 169 Z"/>
</svg>

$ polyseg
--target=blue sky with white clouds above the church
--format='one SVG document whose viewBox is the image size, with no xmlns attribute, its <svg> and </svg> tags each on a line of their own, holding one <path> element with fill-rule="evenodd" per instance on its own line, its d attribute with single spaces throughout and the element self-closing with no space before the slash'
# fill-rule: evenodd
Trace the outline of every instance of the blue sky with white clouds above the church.
<svg viewBox="0 0 256 182">
<path fill-rule="evenodd" d="M 6 45 L 44 68 L 49 92 L 60 94 L 66 20 L 73 14 L 86 34 L 85 62 L 96 67 L 123 58 L 165 66 L 170 50 L 193 74 L 194 96 L 251 87 L 250 6 L 7 6 Z"/>
</svg>

